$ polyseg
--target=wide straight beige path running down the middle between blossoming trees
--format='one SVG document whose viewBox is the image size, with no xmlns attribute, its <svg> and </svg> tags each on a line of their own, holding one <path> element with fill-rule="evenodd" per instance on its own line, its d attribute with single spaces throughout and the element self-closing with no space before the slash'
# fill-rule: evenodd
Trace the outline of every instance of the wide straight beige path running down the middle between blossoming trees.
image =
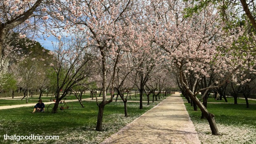
<svg viewBox="0 0 256 144">
<path fill-rule="evenodd" d="M 173 94 L 102 144 L 201 144 L 180 94 Z"/>
</svg>

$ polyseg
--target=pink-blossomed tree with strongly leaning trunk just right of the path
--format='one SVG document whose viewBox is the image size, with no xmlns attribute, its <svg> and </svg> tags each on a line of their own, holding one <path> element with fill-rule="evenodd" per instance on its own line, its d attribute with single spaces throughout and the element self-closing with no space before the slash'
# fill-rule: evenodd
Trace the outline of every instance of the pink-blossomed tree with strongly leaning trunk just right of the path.
<svg viewBox="0 0 256 144">
<path fill-rule="evenodd" d="M 169 54 L 169 65 L 178 70 L 180 84 L 207 118 L 212 134 L 219 135 L 214 115 L 207 111 L 196 96 L 201 91 L 205 94 L 209 88 L 224 84 L 233 72 L 246 64 L 245 60 L 249 56 L 242 58 L 241 55 L 232 55 L 232 50 L 219 49 L 231 47 L 233 41 L 242 35 L 242 31 L 237 28 L 236 31 L 224 33 L 224 25 L 219 21 L 219 15 L 213 6 L 207 7 L 199 14 L 184 18 L 185 11 L 182 12 L 182 9 L 189 3 L 156 1 L 152 1 L 152 6 L 149 7 L 149 12 L 152 12 L 150 18 L 156 23 L 149 32 L 157 32 L 155 42 Z M 186 77 L 189 70 L 193 71 L 195 77 L 192 85 Z M 201 77 L 208 78 L 211 72 L 220 75 L 221 79 L 215 81 L 218 86 L 211 85 L 196 91 L 195 87 Z"/>
</svg>

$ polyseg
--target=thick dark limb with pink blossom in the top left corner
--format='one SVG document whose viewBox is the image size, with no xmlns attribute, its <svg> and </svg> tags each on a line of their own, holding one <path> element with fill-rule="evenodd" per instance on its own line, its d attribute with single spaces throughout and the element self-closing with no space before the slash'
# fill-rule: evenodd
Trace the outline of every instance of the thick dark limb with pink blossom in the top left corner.
<svg viewBox="0 0 256 144">
<path fill-rule="evenodd" d="M 5 63 L 8 63 L 8 54 L 17 49 L 10 46 L 11 43 L 26 37 L 24 33 L 28 32 L 35 38 L 35 29 L 39 26 L 38 20 L 41 19 L 42 14 L 41 6 L 46 3 L 49 4 L 50 1 L 2 0 L 0 2 L 0 71 L 6 66 Z M 14 35 L 14 32 L 20 34 Z"/>
</svg>

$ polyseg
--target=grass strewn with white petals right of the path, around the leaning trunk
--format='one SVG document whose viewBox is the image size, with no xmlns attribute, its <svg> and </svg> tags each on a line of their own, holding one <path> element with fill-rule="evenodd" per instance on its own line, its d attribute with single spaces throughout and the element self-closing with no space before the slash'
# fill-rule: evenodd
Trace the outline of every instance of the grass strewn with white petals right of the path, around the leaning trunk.
<svg viewBox="0 0 256 144">
<path fill-rule="evenodd" d="M 256 105 L 251 104 L 246 108 L 245 100 L 240 102 L 238 105 L 208 103 L 207 110 L 214 114 L 220 136 L 211 135 L 208 121 L 200 119 L 201 111 L 194 111 L 193 107 L 185 102 L 202 144 L 255 144 Z"/>
</svg>

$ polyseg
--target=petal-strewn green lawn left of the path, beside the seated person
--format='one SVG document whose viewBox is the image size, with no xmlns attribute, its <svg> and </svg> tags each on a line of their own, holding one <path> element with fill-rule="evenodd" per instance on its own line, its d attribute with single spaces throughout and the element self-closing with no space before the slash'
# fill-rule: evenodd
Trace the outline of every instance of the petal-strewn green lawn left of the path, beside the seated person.
<svg viewBox="0 0 256 144">
<path fill-rule="evenodd" d="M 143 103 L 139 109 L 138 102 L 128 103 L 128 117 L 124 117 L 123 102 L 111 102 L 104 108 L 104 132 L 95 131 L 98 107 L 95 102 L 72 102 L 71 111 L 58 111 L 57 114 L 37 112 L 31 114 L 33 107 L 20 107 L 0 110 L 0 143 L 14 143 L 4 140 L 3 135 L 57 135 L 59 140 L 45 140 L 42 143 L 100 143 L 135 118 L 151 109 L 156 103 Z M 46 105 L 47 107 L 47 105 Z M 45 109 L 47 111 L 47 109 Z M 77 138 L 77 137 L 82 138 Z M 22 140 L 24 143 L 35 143 L 35 140 Z"/>
</svg>

